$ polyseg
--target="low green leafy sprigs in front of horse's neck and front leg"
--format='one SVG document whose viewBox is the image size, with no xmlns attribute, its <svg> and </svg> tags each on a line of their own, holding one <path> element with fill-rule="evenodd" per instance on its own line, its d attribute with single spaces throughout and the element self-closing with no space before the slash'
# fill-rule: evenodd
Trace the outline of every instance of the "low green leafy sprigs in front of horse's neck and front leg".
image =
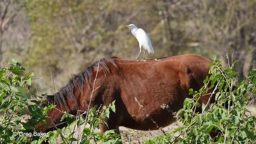
<svg viewBox="0 0 256 144">
<path fill-rule="evenodd" d="M 62 133 L 69 134 L 67 138 L 65 138 L 64 142 L 71 142 L 76 141 L 76 139 L 73 138 L 74 134 L 76 133 L 73 128 L 73 124 L 75 124 L 78 127 L 78 131 L 82 128 L 82 125 L 88 122 L 90 124 L 89 128 L 82 128 L 82 135 L 79 136 L 81 138 L 80 143 L 82 144 L 90 144 L 90 140 L 94 140 L 94 142 L 100 142 L 103 141 L 103 144 L 118 144 L 122 141 L 120 139 L 120 135 L 116 134 L 114 130 L 108 130 L 104 133 L 102 132 L 94 132 L 95 129 L 99 129 L 99 124 L 107 125 L 104 119 L 109 118 L 110 110 L 115 112 L 115 101 L 112 102 L 112 104 L 109 104 L 108 106 L 103 106 L 101 110 L 97 110 L 96 108 L 91 108 L 88 112 L 88 118 L 84 118 L 82 114 L 79 114 L 78 112 L 77 116 L 74 116 L 72 114 L 65 114 L 62 116 L 61 121 L 66 119 L 68 128 L 62 128 L 62 130 L 59 130 Z M 84 114 L 84 113 L 83 113 Z M 70 131 L 73 131 L 70 133 Z M 51 138 L 52 143 L 56 143 L 55 139 Z"/>
</svg>

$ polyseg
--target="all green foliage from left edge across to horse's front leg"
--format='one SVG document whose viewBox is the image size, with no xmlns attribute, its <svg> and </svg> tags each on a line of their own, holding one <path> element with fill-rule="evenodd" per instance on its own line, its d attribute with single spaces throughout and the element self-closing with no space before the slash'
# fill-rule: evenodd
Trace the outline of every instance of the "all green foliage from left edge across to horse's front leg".
<svg viewBox="0 0 256 144">
<path fill-rule="evenodd" d="M 39 123 L 46 124 L 45 118 L 49 118 L 46 112 L 55 106 L 39 108 L 43 102 L 36 99 L 42 98 L 45 94 L 37 96 L 30 92 L 29 86 L 32 84 L 34 74 L 24 75 L 25 69 L 16 60 L 8 62 L 8 65 L 10 67 L 0 69 L 0 112 L 2 112 L 0 143 L 38 144 L 48 141 L 56 144 L 56 138 L 61 137 L 62 142 L 66 144 L 77 141 L 74 138 L 74 127 L 81 128 L 81 125 L 87 122 L 90 123 L 90 127 L 82 129 L 80 142 L 89 144 L 90 140 L 94 140 L 112 144 L 122 141 L 120 135 L 115 134 L 114 130 L 104 133 L 94 132 L 96 128 L 99 128 L 99 124 L 106 124 L 104 119 L 109 118 L 110 110 L 115 112 L 115 101 L 108 106 L 103 106 L 102 110 L 91 108 L 87 120 L 82 114 L 74 116 L 64 112 L 62 120 L 66 120 L 68 125 L 66 128 L 48 132 L 45 136 L 39 135 L 40 132 L 35 134 L 33 131 L 35 126 Z"/>
</svg>

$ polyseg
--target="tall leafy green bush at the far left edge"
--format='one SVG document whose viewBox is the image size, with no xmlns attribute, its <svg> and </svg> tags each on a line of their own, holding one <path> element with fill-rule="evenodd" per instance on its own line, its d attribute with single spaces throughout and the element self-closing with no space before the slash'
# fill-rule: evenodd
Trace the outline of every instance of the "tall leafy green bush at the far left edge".
<svg viewBox="0 0 256 144">
<path fill-rule="evenodd" d="M 8 64 L 9 68 L 0 69 L 0 112 L 3 113 L 0 122 L 0 141 L 6 144 L 24 143 L 28 141 L 26 136 L 14 136 L 13 133 L 30 132 L 30 126 L 35 126 L 41 120 L 27 124 L 22 116 L 30 111 L 30 115 L 42 118 L 46 116 L 46 111 L 37 108 L 40 101 L 30 100 L 30 96 L 40 98 L 28 92 L 34 74 L 25 76 L 25 69 L 16 60 Z"/>
</svg>

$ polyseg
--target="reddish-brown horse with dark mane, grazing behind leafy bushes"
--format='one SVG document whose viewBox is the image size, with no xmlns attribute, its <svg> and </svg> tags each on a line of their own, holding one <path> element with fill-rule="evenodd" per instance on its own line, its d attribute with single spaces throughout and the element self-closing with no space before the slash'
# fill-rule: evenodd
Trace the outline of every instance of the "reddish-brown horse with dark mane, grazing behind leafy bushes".
<svg viewBox="0 0 256 144">
<path fill-rule="evenodd" d="M 100 126 L 102 132 L 125 126 L 136 130 L 158 129 L 176 120 L 170 112 L 183 108 L 188 90 L 199 90 L 208 76 L 210 60 L 194 54 L 184 54 L 156 60 L 130 61 L 116 57 L 103 58 L 94 62 L 85 71 L 77 74 L 69 83 L 53 96 L 46 96 L 46 104 L 54 103 L 58 110 L 51 110 L 46 119 L 47 125 L 40 130 L 47 132 L 54 123 L 60 123 L 66 111 L 76 115 L 77 110 L 86 111 L 99 63 L 96 90 L 92 96 L 91 107 L 99 108 L 116 100 L 116 113 L 106 120 L 108 127 Z M 201 103 L 208 101 L 210 95 L 200 98 Z M 134 98 L 143 106 L 140 108 Z M 214 98 L 213 98 L 214 99 Z M 213 100 L 212 99 L 212 100 Z M 162 105 L 168 105 L 169 110 Z M 59 111 L 60 110 L 60 111 Z M 41 124 L 38 124 L 37 128 Z M 59 125 L 63 127 L 65 124 Z"/>
</svg>

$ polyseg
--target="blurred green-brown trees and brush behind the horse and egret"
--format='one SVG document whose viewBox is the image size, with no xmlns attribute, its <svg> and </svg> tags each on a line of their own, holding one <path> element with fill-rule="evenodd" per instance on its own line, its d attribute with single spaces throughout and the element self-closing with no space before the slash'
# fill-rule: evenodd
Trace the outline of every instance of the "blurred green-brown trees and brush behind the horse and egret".
<svg viewBox="0 0 256 144">
<path fill-rule="evenodd" d="M 40 93 L 99 58 L 134 60 L 128 24 L 148 33 L 155 53 L 146 59 L 193 53 L 225 67 L 228 54 L 239 78 L 256 68 L 256 0 L 0 0 L 0 14 L 1 66 L 21 62 Z"/>
</svg>

